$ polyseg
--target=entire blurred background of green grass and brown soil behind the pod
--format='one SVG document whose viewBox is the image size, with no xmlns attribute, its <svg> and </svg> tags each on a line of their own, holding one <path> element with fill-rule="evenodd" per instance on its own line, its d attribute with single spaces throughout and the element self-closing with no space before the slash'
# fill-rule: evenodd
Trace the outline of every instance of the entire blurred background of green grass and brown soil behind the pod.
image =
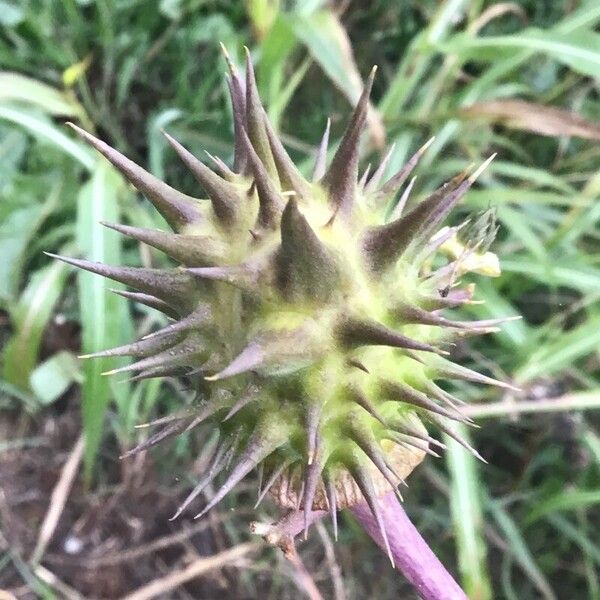
<svg viewBox="0 0 600 600">
<path fill-rule="evenodd" d="M 269 114 L 305 168 L 328 116 L 341 135 L 373 64 L 365 166 L 394 143 L 392 171 L 436 135 L 422 196 L 498 152 L 461 211 L 496 207 L 503 274 L 478 280 L 485 303 L 469 310 L 524 319 L 455 352 L 522 391 L 460 390 L 489 464 L 450 444 L 412 476 L 406 509 L 470 598 L 600 598 L 599 23 L 594 0 L 1 0 L 0 588 L 121 597 L 199 564 L 204 576 L 158 597 L 297 598 L 306 586 L 278 552 L 246 543 L 255 481 L 204 524 L 168 522 L 206 467 L 209 432 L 117 460 L 147 435 L 135 424 L 190 392 L 79 362 L 159 317 L 42 254 L 164 260 L 98 225 L 161 223 L 63 123 L 193 191 L 160 130 L 230 160 L 223 42 L 235 60 L 251 48 Z M 335 545 L 328 527 L 300 546 L 324 597 L 411 597 L 350 517 Z M 234 566 L 198 562 L 219 552 Z M 145 593 L 132 597 L 157 597 Z"/>
</svg>

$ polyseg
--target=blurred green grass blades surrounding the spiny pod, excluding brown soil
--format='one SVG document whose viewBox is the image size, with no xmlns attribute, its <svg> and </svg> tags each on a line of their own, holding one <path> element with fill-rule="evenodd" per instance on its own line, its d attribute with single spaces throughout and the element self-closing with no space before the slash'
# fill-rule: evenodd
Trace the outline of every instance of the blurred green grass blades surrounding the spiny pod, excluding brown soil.
<svg viewBox="0 0 600 600">
<path fill-rule="evenodd" d="M 117 345 L 157 319 L 137 309 L 132 319 L 127 302 L 108 293 L 99 277 L 80 274 L 74 285 L 42 251 L 109 263 L 164 260 L 147 248 L 121 245 L 97 224 L 160 226 L 65 120 L 97 131 L 191 191 L 193 182 L 167 152 L 160 129 L 198 154 L 231 159 L 219 42 L 238 62 L 243 45 L 250 46 L 269 113 L 306 169 L 327 117 L 339 138 L 360 75 L 377 64 L 364 164 L 383 151 L 384 127 L 386 146 L 395 143 L 390 171 L 436 135 L 418 170 L 422 196 L 498 152 L 460 209 L 496 206 L 502 225 L 493 250 L 503 274 L 478 282 L 485 304 L 470 310 L 482 318 L 524 316 L 458 349 L 465 364 L 484 361 L 523 390 L 503 397 L 505 415 L 471 432 L 489 465 L 451 447 L 445 463 L 430 461 L 413 476 L 407 509 L 444 562 L 460 566 L 472 598 L 598 597 L 597 416 L 588 410 L 506 417 L 510 402 L 568 392 L 596 394 L 600 407 L 600 150 L 597 141 L 569 137 L 566 118 L 556 135 L 541 136 L 528 130 L 527 119 L 512 126 L 500 116 L 479 119 L 463 110 L 517 98 L 596 125 L 597 2 L 522 1 L 494 17 L 492 4 L 483 1 L 380 0 L 368 8 L 351 3 L 341 18 L 318 0 L 0 4 L 0 311 L 8 319 L 0 338 L 0 409 L 41 419 L 65 386 L 81 383 L 91 481 L 94 473 L 103 479 L 110 463 L 97 460 L 103 440 L 117 439 L 125 448 L 143 432 L 133 424 L 151 418 L 158 405 L 181 402 L 160 384 L 111 382 L 100 376 L 107 362 L 82 365 L 70 349 L 41 354 L 44 332 L 58 314 L 81 328 L 85 352 Z M 277 10 L 279 4 L 286 9 Z M 473 402 L 502 399 L 495 390 L 460 391 Z M 161 447 L 155 454 L 165 469 L 171 452 L 180 463 L 193 460 L 185 443 Z M 359 544 L 356 570 L 345 570 L 345 584 L 355 597 L 366 597 L 360 591 L 380 568 L 377 555 L 362 534 L 344 527 L 342 543 Z M 343 548 L 336 551 L 344 556 Z M 371 597 L 394 597 L 394 577 L 386 572 L 385 583 L 373 583 Z"/>
</svg>

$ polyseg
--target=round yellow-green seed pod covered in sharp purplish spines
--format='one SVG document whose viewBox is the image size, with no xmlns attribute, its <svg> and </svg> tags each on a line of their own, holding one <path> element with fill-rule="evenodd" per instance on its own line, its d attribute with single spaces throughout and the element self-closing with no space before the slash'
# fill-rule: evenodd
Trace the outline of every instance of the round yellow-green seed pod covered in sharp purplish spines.
<svg viewBox="0 0 600 600">
<path fill-rule="evenodd" d="M 208 201 L 173 189 L 71 125 L 173 231 L 105 225 L 180 266 L 58 258 L 132 287 L 135 292 L 122 294 L 172 319 L 135 343 L 93 356 L 132 356 L 135 362 L 112 373 L 180 375 L 197 390 L 193 411 L 157 421 L 158 432 L 128 454 L 201 423 L 218 428 L 212 465 L 177 514 L 225 472 L 203 515 L 260 466 L 259 500 L 270 492 L 281 506 L 303 509 L 305 527 L 311 510 L 329 510 L 335 521 L 338 509 L 366 501 L 386 539 L 377 498 L 403 483 L 425 454 L 443 447 L 425 424 L 477 455 L 452 429 L 452 421 L 469 422 L 461 401 L 436 382 L 509 387 L 454 364 L 447 352 L 455 336 L 487 333 L 500 321 L 440 314 L 471 300 L 473 287 L 456 287 L 456 280 L 478 253 L 478 240 L 469 239 L 457 254 L 458 228 L 436 232 L 493 157 L 407 209 L 411 181 L 386 220 L 430 142 L 387 181 L 381 182 L 389 155 L 370 179 L 358 181 L 359 138 L 375 69 L 329 166 L 328 124 L 307 180 L 265 114 L 250 55 L 245 79 L 228 62 L 233 168 L 214 159 L 219 175 L 165 134 Z M 484 228 L 485 250 L 490 228 Z M 453 259 L 432 270 L 432 256 L 452 240 L 446 254 L 454 253 Z"/>
</svg>

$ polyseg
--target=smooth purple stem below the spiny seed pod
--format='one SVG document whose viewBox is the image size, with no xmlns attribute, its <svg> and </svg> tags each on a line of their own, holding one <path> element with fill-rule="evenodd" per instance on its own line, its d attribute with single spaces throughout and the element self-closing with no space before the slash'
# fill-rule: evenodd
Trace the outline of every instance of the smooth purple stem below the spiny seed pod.
<svg viewBox="0 0 600 600">
<path fill-rule="evenodd" d="M 468 600 L 404 512 L 394 492 L 379 500 L 379 509 L 396 566 L 423 600 Z M 366 503 L 350 508 L 365 531 L 384 551 L 385 542 Z"/>
</svg>

